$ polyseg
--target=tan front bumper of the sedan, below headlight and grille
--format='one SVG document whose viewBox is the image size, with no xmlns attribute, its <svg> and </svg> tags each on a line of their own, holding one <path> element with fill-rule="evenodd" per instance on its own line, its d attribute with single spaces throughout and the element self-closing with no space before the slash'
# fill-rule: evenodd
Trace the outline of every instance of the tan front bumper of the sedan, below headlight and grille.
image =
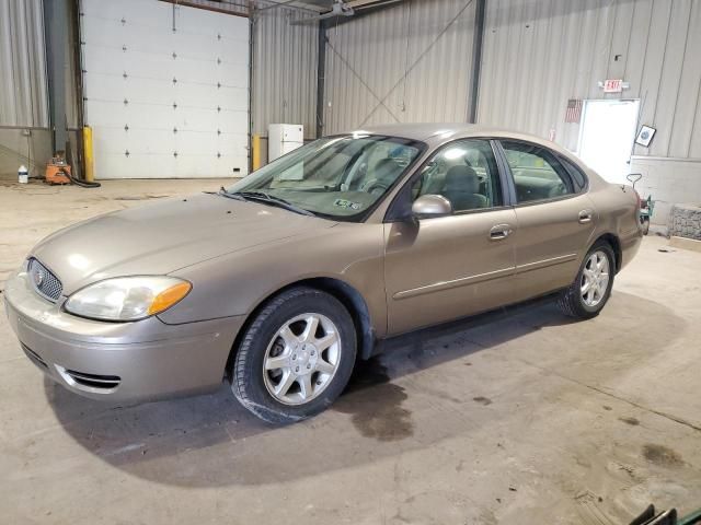
<svg viewBox="0 0 701 525">
<path fill-rule="evenodd" d="M 104 323 L 64 312 L 20 271 L 5 283 L 10 326 L 27 357 L 69 390 L 151 400 L 216 388 L 243 317 L 168 325 L 158 317 Z"/>
</svg>

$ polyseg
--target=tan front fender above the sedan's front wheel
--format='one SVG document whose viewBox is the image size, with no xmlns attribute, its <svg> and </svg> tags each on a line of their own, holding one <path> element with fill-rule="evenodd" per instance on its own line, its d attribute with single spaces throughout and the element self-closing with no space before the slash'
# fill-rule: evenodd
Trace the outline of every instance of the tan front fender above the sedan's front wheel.
<svg viewBox="0 0 701 525">
<path fill-rule="evenodd" d="M 192 292 L 159 315 L 168 324 L 250 315 L 267 298 L 295 282 L 330 278 L 364 298 L 378 336 L 387 329 L 381 224 L 341 223 L 227 254 L 172 276 L 193 283 Z"/>
</svg>

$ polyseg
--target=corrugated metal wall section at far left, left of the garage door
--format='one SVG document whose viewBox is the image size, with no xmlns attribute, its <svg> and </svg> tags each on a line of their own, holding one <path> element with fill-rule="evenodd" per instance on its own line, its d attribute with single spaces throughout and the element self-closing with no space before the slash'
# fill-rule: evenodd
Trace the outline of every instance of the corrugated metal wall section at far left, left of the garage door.
<svg viewBox="0 0 701 525">
<path fill-rule="evenodd" d="M 0 0 L 0 126 L 48 127 L 42 0 Z"/>
</svg>

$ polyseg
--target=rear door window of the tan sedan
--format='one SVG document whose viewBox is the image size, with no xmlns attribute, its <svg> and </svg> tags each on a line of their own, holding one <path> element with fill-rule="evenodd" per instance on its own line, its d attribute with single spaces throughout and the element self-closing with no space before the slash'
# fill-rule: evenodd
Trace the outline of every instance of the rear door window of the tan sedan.
<svg viewBox="0 0 701 525">
<path fill-rule="evenodd" d="M 502 147 L 512 170 L 518 202 L 553 199 L 575 192 L 567 170 L 547 149 L 509 141 L 502 141 Z"/>
</svg>

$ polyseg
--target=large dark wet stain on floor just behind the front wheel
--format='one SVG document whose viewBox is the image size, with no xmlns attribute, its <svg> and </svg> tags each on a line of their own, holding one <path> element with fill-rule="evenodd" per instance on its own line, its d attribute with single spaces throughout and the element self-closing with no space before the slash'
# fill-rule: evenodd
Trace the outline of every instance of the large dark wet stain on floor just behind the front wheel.
<svg viewBox="0 0 701 525">
<path fill-rule="evenodd" d="M 345 393 L 334 404 L 340 412 L 352 415 L 355 428 L 366 438 L 400 441 L 413 435 L 412 413 L 402 407 L 404 388 L 390 382 L 379 358 L 361 361 Z"/>
</svg>

